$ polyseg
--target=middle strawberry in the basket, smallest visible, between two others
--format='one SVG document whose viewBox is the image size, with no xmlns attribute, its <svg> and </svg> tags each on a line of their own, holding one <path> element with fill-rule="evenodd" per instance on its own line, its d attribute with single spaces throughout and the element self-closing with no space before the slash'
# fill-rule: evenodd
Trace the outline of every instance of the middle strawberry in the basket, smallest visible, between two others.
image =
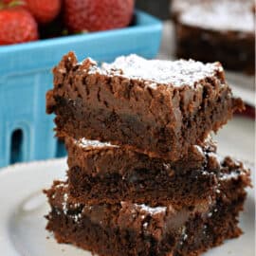
<svg viewBox="0 0 256 256">
<path fill-rule="evenodd" d="M 25 2 L 27 9 L 40 24 L 51 22 L 61 11 L 61 0 L 25 0 Z"/>
</svg>

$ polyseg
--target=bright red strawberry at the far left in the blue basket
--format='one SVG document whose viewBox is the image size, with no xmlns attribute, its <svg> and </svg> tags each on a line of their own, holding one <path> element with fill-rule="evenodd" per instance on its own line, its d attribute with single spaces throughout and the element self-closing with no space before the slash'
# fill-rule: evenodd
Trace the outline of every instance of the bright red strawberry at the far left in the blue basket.
<svg viewBox="0 0 256 256">
<path fill-rule="evenodd" d="M 20 7 L 0 9 L 0 46 L 37 39 L 37 23 L 27 9 Z"/>
</svg>

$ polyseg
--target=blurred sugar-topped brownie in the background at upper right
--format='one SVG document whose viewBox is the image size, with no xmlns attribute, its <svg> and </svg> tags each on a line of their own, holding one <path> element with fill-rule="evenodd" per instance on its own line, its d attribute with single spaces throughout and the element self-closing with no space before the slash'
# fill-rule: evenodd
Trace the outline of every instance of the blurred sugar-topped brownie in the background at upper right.
<svg viewBox="0 0 256 256">
<path fill-rule="evenodd" d="M 173 0 L 178 58 L 219 61 L 225 68 L 255 70 L 253 0 Z"/>
</svg>

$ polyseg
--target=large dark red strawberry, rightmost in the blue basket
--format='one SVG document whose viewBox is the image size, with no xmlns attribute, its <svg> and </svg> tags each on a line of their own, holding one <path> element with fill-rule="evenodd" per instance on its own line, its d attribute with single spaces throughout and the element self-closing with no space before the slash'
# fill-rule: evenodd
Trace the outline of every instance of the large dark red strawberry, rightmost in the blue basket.
<svg viewBox="0 0 256 256">
<path fill-rule="evenodd" d="M 64 23 L 73 32 L 126 27 L 134 0 L 64 0 Z"/>
</svg>

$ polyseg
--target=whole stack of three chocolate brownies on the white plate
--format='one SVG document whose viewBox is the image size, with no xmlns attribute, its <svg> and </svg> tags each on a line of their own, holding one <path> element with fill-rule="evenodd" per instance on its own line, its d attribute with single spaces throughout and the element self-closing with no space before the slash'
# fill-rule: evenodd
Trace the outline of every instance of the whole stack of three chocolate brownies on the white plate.
<svg viewBox="0 0 256 256">
<path fill-rule="evenodd" d="M 67 180 L 46 191 L 58 242 L 194 256 L 241 234 L 249 171 L 209 137 L 244 108 L 221 64 L 130 55 L 99 66 L 71 52 L 46 101 L 68 151 Z"/>
</svg>

